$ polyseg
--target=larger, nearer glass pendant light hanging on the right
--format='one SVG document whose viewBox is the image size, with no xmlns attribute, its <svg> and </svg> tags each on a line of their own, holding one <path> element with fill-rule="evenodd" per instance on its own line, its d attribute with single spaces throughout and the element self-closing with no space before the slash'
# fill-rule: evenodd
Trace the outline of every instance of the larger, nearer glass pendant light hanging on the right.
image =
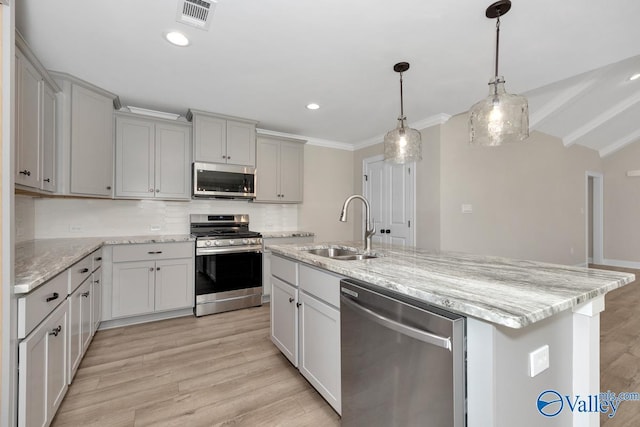
<svg viewBox="0 0 640 427">
<path fill-rule="evenodd" d="M 500 0 L 487 8 L 487 18 L 496 19 L 495 77 L 489 82 L 489 96 L 469 110 L 471 144 L 497 146 L 517 142 L 529 136 L 529 106 L 524 96 L 512 95 L 504 89 L 504 78 L 498 73 L 500 17 L 511 9 L 511 1 Z"/>
</svg>

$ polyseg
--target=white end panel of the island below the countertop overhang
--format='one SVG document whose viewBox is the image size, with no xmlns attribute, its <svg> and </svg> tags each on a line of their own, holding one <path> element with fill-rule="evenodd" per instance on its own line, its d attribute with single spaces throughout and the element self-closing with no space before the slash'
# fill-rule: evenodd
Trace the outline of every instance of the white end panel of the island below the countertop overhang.
<svg viewBox="0 0 640 427">
<path fill-rule="evenodd" d="M 549 368 L 529 376 L 529 353 L 549 346 Z M 468 426 L 572 426 L 563 410 L 544 417 L 537 399 L 545 390 L 573 392 L 573 313 L 570 310 L 522 329 L 467 319 Z"/>
</svg>

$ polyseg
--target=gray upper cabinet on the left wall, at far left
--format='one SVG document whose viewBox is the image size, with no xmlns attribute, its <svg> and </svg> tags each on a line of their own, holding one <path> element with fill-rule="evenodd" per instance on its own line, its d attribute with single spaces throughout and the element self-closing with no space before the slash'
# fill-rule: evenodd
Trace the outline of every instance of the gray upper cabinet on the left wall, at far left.
<svg viewBox="0 0 640 427">
<path fill-rule="evenodd" d="M 15 183 L 54 192 L 59 88 L 19 35 L 16 45 Z"/>
</svg>

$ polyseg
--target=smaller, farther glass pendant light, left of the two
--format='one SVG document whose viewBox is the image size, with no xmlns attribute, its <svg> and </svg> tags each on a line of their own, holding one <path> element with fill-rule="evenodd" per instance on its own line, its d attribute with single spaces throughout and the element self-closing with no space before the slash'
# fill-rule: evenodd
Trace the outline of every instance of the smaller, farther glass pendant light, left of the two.
<svg viewBox="0 0 640 427">
<path fill-rule="evenodd" d="M 408 62 L 399 62 L 393 71 L 400 73 L 400 117 L 398 127 L 389 131 L 384 137 L 384 159 L 390 163 L 410 163 L 422 160 L 422 141 L 420 132 L 407 127 L 404 116 L 404 100 L 402 99 L 402 73 L 409 69 Z"/>
</svg>

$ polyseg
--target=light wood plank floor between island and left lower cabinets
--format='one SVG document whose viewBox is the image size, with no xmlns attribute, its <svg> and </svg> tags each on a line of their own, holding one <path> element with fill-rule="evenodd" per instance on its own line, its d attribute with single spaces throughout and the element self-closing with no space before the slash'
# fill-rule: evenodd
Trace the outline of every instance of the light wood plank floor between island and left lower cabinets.
<svg viewBox="0 0 640 427">
<path fill-rule="evenodd" d="M 269 306 L 98 331 L 54 426 L 339 426 L 269 338 Z"/>
</svg>

